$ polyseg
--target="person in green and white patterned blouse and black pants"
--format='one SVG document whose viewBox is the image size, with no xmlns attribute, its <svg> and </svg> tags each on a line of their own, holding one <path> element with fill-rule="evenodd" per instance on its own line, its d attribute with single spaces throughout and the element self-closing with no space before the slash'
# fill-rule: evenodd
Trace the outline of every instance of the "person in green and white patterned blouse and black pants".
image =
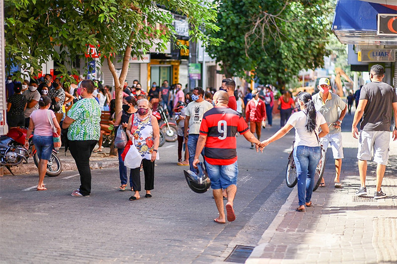
<svg viewBox="0 0 397 264">
<path fill-rule="evenodd" d="M 101 133 L 101 109 L 92 96 L 93 90 L 93 81 L 80 82 L 76 93 L 82 99 L 73 104 L 62 123 L 63 128 L 69 128 L 69 150 L 80 174 L 80 188 L 74 190 L 72 196 L 89 196 L 91 192 L 89 157 Z"/>
</svg>

